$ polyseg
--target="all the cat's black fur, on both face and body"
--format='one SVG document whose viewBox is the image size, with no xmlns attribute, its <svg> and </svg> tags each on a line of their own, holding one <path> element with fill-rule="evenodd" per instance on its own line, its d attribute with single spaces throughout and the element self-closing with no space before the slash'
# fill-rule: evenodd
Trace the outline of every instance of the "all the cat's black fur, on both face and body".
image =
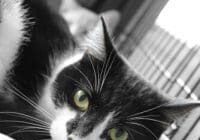
<svg viewBox="0 0 200 140">
<path fill-rule="evenodd" d="M 41 92 L 47 82 L 46 77 L 52 74 L 51 68 L 54 64 L 51 59 L 59 59 L 68 52 L 73 53 L 78 46 L 69 32 L 67 23 L 56 11 L 49 8 L 46 2 L 25 0 L 23 5 L 28 7 L 27 16 L 32 18 L 34 24 L 28 29 L 30 40 L 21 46 L 15 66 L 9 73 L 5 92 L 11 92 L 12 89 L 37 102 L 36 95 L 41 96 L 38 92 Z M 124 62 L 114 49 L 105 23 L 103 20 L 102 22 L 106 52 L 104 58 L 99 60 L 86 52 L 81 61 L 64 68 L 54 81 L 52 100 L 57 108 L 68 103 L 72 109 L 79 112 L 75 119 L 66 124 L 68 133 L 78 132 L 80 136 L 85 137 L 108 113 L 113 112 L 114 119 L 102 133 L 101 138 L 109 140 L 107 130 L 119 127 L 129 132 L 129 140 L 155 140 L 167 127 L 163 122 L 171 122 L 163 112 L 163 105 L 168 100 L 137 76 Z M 100 76 L 98 83 L 94 71 L 97 77 Z M 102 88 L 95 88 L 95 84 L 102 84 Z M 83 116 L 80 115 L 81 110 L 78 110 L 72 102 L 72 94 L 77 89 L 85 90 L 90 97 L 90 107 Z M 35 110 L 17 96 L 12 104 L 1 101 L 0 109 L 37 117 Z M 151 119 L 133 120 L 134 114 L 142 111 L 145 112 L 140 116 L 148 115 Z M 0 116 L 2 120 L 23 120 L 13 115 Z M 137 125 L 138 123 L 140 125 Z M 9 134 L 16 130 L 12 127 L 16 125 L 20 124 L 0 123 L 0 132 Z M 16 140 L 38 140 L 46 136 L 21 133 L 13 137 Z"/>
</svg>

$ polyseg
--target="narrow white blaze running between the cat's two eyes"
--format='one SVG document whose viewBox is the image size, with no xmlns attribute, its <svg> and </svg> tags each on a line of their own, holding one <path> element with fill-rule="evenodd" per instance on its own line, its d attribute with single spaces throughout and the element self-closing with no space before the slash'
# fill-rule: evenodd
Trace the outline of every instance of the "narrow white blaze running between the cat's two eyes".
<svg viewBox="0 0 200 140">
<path fill-rule="evenodd" d="M 105 131 L 106 127 L 108 126 L 108 123 L 112 120 L 113 113 L 108 114 L 108 116 L 102 121 L 98 126 L 96 126 L 93 131 L 86 137 L 82 138 L 79 136 L 76 136 L 74 134 L 71 134 L 68 136 L 68 138 L 71 138 L 72 140 L 102 140 L 100 136 Z"/>
</svg>

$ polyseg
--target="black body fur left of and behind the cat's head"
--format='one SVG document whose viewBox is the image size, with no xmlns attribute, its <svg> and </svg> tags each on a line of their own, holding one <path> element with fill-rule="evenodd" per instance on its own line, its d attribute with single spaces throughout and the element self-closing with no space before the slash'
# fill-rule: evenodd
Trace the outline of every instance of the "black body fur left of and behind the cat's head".
<svg viewBox="0 0 200 140">
<path fill-rule="evenodd" d="M 31 24 L 27 28 L 29 40 L 23 43 L 14 62 L 13 69 L 6 80 L 5 92 L 21 92 L 32 100 L 51 74 L 50 59 L 59 59 L 62 53 L 73 50 L 75 42 L 69 32 L 65 20 L 54 10 L 48 7 L 43 0 L 24 0 L 23 7 L 27 8 L 27 18 Z M 3 94 L 4 94 L 3 93 Z M 1 111 L 17 111 L 35 116 L 33 108 L 19 97 L 12 103 L 1 101 Z M 7 106 L 5 108 L 5 106 Z M 1 120 L 7 120 L 10 115 L 0 115 Z M 20 120 L 10 117 L 11 120 Z M 12 126 L 18 123 L 1 123 L 0 132 L 9 134 L 16 130 Z M 14 135 L 16 140 L 38 140 L 34 133 Z"/>
</svg>

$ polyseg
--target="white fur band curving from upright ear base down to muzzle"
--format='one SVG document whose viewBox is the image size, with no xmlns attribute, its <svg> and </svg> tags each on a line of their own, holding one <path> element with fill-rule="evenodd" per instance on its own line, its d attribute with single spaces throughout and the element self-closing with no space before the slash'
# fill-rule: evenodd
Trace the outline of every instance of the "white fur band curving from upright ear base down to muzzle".
<svg viewBox="0 0 200 140">
<path fill-rule="evenodd" d="M 55 104 L 52 101 L 52 92 L 54 91 L 53 82 L 64 68 L 80 61 L 83 55 L 83 52 L 77 52 L 71 56 L 63 57 L 63 59 L 60 60 L 60 63 L 55 65 L 53 73 L 43 90 L 43 96 L 39 104 L 54 116 L 54 118 L 52 118 L 53 120 L 50 120 L 50 135 L 52 140 L 67 140 L 66 123 L 76 116 L 76 112 L 71 110 L 71 108 L 69 108 L 67 105 L 62 109 L 55 107 Z M 45 114 L 43 115 L 45 116 Z M 49 120 L 49 118 L 46 119 Z"/>
</svg>

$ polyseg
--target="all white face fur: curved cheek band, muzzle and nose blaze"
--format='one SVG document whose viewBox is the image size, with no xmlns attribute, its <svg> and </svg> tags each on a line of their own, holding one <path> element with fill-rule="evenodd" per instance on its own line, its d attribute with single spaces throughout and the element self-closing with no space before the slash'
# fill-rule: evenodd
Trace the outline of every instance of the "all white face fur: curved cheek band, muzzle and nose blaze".
<svg viewBox="0 0 200 140">
<path fill-rule="evenodd" d="M 46 87 L 44 88 L 44 91 L 43 91 L 44 94 L 42 94 L 43 96 L 39 104 L 48 112 L 54 115 L 53 120 L 50 120 L 52 121 L 51 127 L 50 127 L 50 134 L 51 134 L 52 140 L 67 140 L 68 134 L 67 134 L 66 124 L 67 122 L 71 121 L 71 119 L 74 119 L 76 116 L 76 112 L 73 111 L 67 105 L 63 107 L 62 109 L 55 107 L 52 101 L 52 91 L 54 91 L 53 82 L 56 80 L 57 76 L 64 68 L 80 61 L 83 55 L 84 55 L 83 52 L 78 52 L 77 54 L 74 54 L 68 58 L 63 58 L 63 61 L 61 61 L 61 63 L 55 66 L 55 69 L 53 70 L 53 74 L 50 77 L 49 81 L 47 82 Z M 97 126 L 94 129 L 94 131 L 92 131 L 91 134 L 89 134 L 86 138 L 84 138 L 84 140 L 93 140 L 93 139 L 98 140 L 98 137 L 106 128 L 111 118 L 112 118 L 112 114 L 109 114 L 105 118 L 105 120 L 102 123 L 100 123 L 99 126 Z M 74 137 L 73 135 L 71 136 Z M 80 140 L 80 139 L 82 140 L 82 138 L 77 137 L 74 140 Z"/>
</svg>

